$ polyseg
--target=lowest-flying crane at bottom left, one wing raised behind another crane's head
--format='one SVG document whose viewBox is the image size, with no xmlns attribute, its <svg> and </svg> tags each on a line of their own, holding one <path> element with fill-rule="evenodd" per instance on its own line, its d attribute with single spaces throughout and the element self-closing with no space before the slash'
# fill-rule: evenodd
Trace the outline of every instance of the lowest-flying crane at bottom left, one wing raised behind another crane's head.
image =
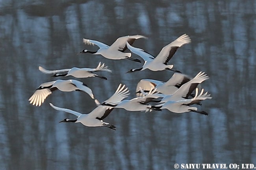
<svg viewBox="0 0 256 170">
<path fill-rule="evenodd" d="M 121 102 L 122 99 L 126 98 L 128 95 L 129 95 L 128 88 L 126 88 L 125 85 L 119 84 L 115 93 L 107 101 L 111 102 L 111 104 L 116 104 Z M 96 99 L 95 99 L 95 102 L 98 103 Z M 54 108 L 55 110 L 71 113 L 77 116 L 77 118 L 74 120 L 70 120 L 66 118 L 60 122 L 75 122 L 75 123 L 80 122 L 84 126 L 90 126 L 90 127 L 106 126 L 113 130 L 115 130 L 116 128 L 116 126 L 114 126 L 113 124 L 109 124 L 108 122 L 103 121 L 103 119 L 105 119 L 109 115 L 109 113 L 114 109 L 112 107 L 99 105 L 90 113 L 82 114 L 67 108 L 59 108 L 57 106 L 54 106 L 52 103 L 50 103 L 50 106 L 52 106 L 52 108 Z"/>
</svg>

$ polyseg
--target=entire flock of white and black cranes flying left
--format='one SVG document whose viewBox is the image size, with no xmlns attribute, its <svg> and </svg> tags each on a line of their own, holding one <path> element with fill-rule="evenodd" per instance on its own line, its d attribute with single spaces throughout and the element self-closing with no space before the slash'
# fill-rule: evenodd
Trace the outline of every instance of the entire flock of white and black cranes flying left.
<svg viewBox="0 0 256 170">
<path fill-rule="evenodd" d="M 197 107 L 191 106 L 194 104 L 201 105 L 201 101 L 211 99 L 208 92 L 204 93 L 203 88 L 198 88 L 200 83 L 209 79 L 208 75 L 200 71 L 195 77 L 190 78 L 189 76 L 182 74 L 180 71 L 174 70 L 173 64 L 167 64 L 179 47 L 191 42 L 189 36 L 187 34 L 181 35 L 176 40 L 163 47 L 156 57 L 145 52 L 143 49 L 131 46 L 133 42 L 139 38 L 147 37 L 143 35 L 128 35 L 119 37 L 111 46 L 96 40 L 83 38 L 84 44 L 96 45 L 99 47 L 99 49 L 97 51 L 83 49 L 80 53 L 102 55 L 103 57 L 112 60 L 128 59 L 135 62 L 141 62 L 141 60 L 137 58 L 132 58 L 131 53 L 124 52 L 128 48 L 132 53 L 139 55 L 144 60 L 144 64 L 141 68 L 130 69 L 128 72 L 143 71 L 144 69 L 150 69 L 152 71 L 161 71 L 167 69 L 174 71 L 175 73 L 167 82 L 153 79 L 141 79 L 136 87 L 137 97 L 130 100 L 124 100 L 126 97 L 128 97 L 128 95 L 130 95 L 130 93 L 126 85 L 120 83 L 115 93 L 106 101 L 100 103 L 97 99 L 95 99 L 93 91 L 83 82 L 74 79 L 59 79 L 41 84 L 30 97 L 30 104 L 41 106 L 46 97 L 52 94 L 52 91 L 57 89 L 60 91 L 82 91 L 87 93 L 91 99 L 94 99 L 95 104 L 97 105 L 96 108 L 88 114 L 82 114 L 74 110 L 54 106 L 52 103 L 50 103 L 50 106 L 52 106 L 52 108 L 55 110 L 64 111 L 77 116 L 77 118 L 74 120 L 66 118 L 60 122 L 80 122 L 85 126 L 106 126 L 113 130 L 116 130 L 116 126 L 108 122 L 104 122 L 104 118 L 106 118 L 114 108 L 145 112 L 167 109 L 174 113 L 196 112 L 208 115 L 208 113 L 204 111 L 198 111 Z M 108 66 L 105 66 L 104 63 L 101 64 L 101 62 L 99 62 L 96 68 L 73 67 L 70 69 L 47 70 L 39 66 L 39 70 L 46 74 L 52 74 L 53 77 L 98 77 L 105 80 L 107 80 L 106 77 L 99 76 L 95 72 L 112 72 L 110 69 L 108 69 Z M 193 93 L 193 91 L 195 91 L 195 93 Z"/>
</svg>

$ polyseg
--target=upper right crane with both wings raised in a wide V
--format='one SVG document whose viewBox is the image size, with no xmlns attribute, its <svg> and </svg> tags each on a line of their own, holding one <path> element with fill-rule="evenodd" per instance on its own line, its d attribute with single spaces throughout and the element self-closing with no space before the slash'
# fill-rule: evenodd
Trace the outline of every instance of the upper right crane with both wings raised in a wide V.
<svg viewBox="0 0 256 170">
<path fill-rule="evenodd" d="M 152 71 L 161 71 L 165 69 L 177 71 L 172 69 L 173 64 L 167 65 L 167 63 L 173 57 L 174 53 L 177 51 L 179 47 L 183 46 L 184 44 L 188 44 L 190 42 L 191 42 L 191 39 L 189 38 L 189 36 L 186 34 L 183 34 L 180 37 L 178 37 L 176 40 L 171 42 L 170 44 L 163 47 L 160 53 L 156 57 L 145 52 L 143 49 L 135 48 L 131 46 L 128 42 L 126 42 L 127 48 L 130 49 L 132 53 L 139 55 L 145 61 L 144 65 L 141 68 L 130 69 L 130 71 L 128 72 L 143 71 L 145 69 L 150 69 Z"/>
</svg>

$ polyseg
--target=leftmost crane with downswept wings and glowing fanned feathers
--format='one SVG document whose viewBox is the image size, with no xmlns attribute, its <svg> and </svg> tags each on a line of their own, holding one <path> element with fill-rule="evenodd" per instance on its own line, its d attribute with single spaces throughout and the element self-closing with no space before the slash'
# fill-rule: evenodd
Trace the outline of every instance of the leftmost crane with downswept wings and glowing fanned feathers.
<svg viewBox="0 0 256 170">
<path fill-rule="evenodd" d="M 87 87 L 83 82 L 70 79 L 50 81 L 41 84 L 39 88 L 35 90 L 33 95 L 28 99 L 28 101 L 30 101 L 30 104 L 32 105 L 41 106 L 41 104 L 45 101 L 46 97 L 52 94 L 52 91 L 57 89 L 66 92 L 83 91 L 87 93 L 92 99 L 94 99 L 93 91 L 89 87 Z"/>
</svg>

